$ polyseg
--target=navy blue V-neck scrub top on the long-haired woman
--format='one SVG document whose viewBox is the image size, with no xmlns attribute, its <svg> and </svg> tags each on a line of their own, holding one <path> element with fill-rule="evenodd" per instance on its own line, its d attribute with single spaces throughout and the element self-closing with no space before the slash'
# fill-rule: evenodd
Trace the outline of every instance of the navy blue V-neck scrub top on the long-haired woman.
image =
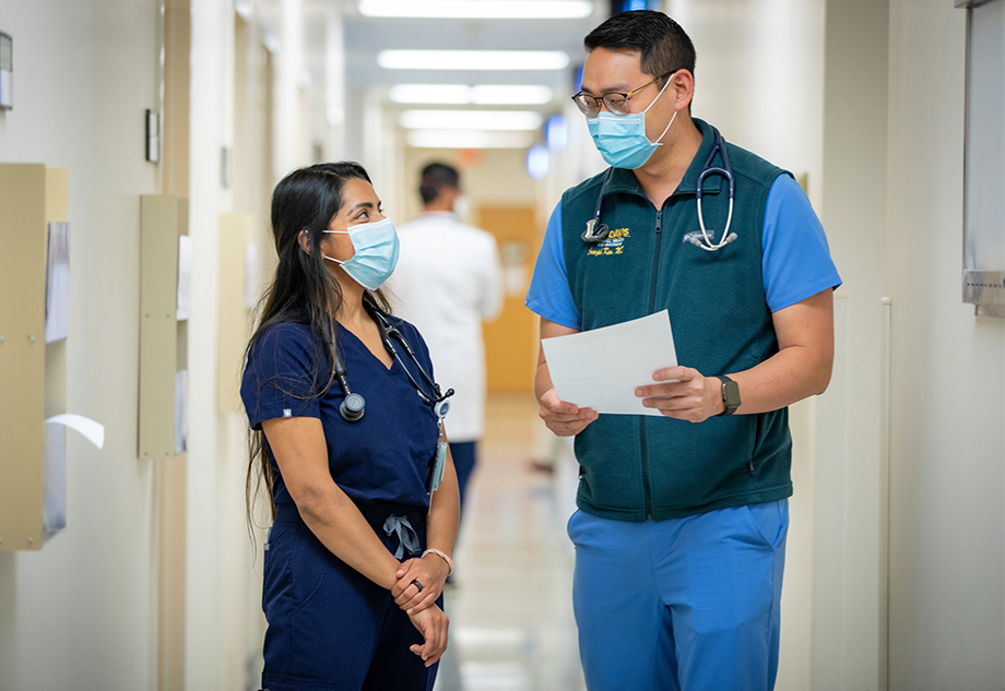
<svg viewBox="0 0 1005 691">
<path fill-rule="evenodd" d="M 418 331 L 395 318 L 391 322 L 431 377 L 433 362 Z M 248 354 L 240 394 L 251 428 L 261 429 L 262 420 L 276 417 L 319 418 L 332 478 L 362 510 L 387 504 L 427 507 L 426 472 L 436 453 L 439 430 L 433 408 L 403 369 L 409 367 L 422 384 L 415 364 L 399 346 L 400 357 L 388 369 L 345 329 L 338 330 L 335 343 L 350 389 L 366 400 L 363 418 L 346 422 L 339 415 L 345 395 L 338 380 L 319 395 L 331 369 L 323 344 L 310 326 L 282 322 L 265 329 Z M 268 453 L 276 473 L 273 501 L 279 509 L 292 504 L 293 499 L 271 449 Z"/>
</svg>

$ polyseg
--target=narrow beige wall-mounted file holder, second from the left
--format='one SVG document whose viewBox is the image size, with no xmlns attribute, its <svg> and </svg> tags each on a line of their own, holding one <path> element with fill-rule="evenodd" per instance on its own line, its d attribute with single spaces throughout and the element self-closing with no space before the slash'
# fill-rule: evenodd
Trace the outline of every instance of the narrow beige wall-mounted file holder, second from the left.
<svg viewBox="0 0 1005 691">
<path fill-rule="evenodd" d="M 137 455 L 166 461 L 185 453 L 188 322 L 178 320 L 180 238 L 188 200 L 140 198 L 140 396 Z"/>
</svg>

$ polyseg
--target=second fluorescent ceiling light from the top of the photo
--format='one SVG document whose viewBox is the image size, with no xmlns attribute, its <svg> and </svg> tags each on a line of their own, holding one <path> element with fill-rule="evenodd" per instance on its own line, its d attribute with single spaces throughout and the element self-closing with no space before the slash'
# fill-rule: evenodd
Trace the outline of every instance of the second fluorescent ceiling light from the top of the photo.
<svg viewBox="0 0 1005 691">
<path fill-rule="evenodd" d="M 381 50 L 377 64 L 387 70 L 564 70 L 561 50 Z"/>
</svg>

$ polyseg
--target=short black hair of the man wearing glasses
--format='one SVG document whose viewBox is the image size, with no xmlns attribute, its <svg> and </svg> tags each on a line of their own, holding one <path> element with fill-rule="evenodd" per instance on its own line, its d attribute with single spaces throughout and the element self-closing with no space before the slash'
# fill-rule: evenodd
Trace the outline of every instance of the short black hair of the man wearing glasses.
<svg viewBox="0 0 1005 691">
<path fill-rule="evenodd" d="M 582 43 L 587 52 L 595 48 L 638 50 L 642 72 L 651 76 L 681 69 L 695 73 L 695 45 L 679 24 L 654 10 L 615 14 Z"/>
</svg>

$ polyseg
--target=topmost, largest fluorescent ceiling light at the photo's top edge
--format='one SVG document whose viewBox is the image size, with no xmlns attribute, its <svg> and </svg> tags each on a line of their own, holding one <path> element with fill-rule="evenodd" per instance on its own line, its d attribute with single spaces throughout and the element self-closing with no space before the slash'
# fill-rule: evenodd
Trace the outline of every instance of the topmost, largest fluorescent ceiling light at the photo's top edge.
<svg viewBox="0 0 1005 691">
<path fill-rule="evenodd" d="M 589 0 L 360 0 L 364 16 L 460 20 L 581 20 Z"/>
</svg>

